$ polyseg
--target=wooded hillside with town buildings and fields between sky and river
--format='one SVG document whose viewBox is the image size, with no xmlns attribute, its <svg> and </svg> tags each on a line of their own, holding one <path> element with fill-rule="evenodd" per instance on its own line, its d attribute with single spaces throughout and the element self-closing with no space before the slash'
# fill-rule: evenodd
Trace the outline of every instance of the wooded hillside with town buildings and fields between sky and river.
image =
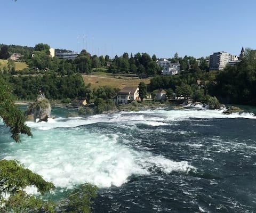
<svg viewBox="0 0 256 213">
<path fill-rule="evenodd" d="M 215 97 L 221 103 L 256 104 L 255 69 L 249 72 L 256 66 L 256 51 L 250 48 L 242 47 L 239 55 L 220 51 L 197 59 L 126 52 L 111 59 L 43 43 L 0 47 L 0 71 L 11 74 L 20 101 L 34 100 L 42 88 L 52 104 L 90 106 L 94 113 L 134 101 L 186 104 Z"/>
</svg>

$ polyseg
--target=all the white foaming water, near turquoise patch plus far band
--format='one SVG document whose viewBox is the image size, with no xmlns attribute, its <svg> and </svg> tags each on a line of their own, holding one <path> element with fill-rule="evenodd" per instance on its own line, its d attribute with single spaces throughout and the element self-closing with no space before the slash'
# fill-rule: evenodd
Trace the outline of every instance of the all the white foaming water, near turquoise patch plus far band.
<svg viewBox="0 0 256 213">
<path fill-rule="evenodd" d="M 80 128 L 97 122 L 118 124 L 172 125 L 189 118 L 255 118 L 252 114 L 221 114 L 219 110 L 152 110 L 100 114 L 87 118 L 57 118 L 49 122 L 27 122 L 34 138 L 22 136 L 22 143 L 1 153 L 5 159 L 17 159 L 56 186 L 72 188 L 90 182 L 99 187 L 120 186 L 131 175 L 148 175 L 156 168 L 163 173 L 188 173 L 196 169 L 187 161 L 172 161 L 148 151 L 135 151 L 118 143 L 118 135 L 94 133 Z M 64 127 L 64 128 L 59 128 Z M 77 127 L 77 128 L 76 128 Z"/>
</svg>

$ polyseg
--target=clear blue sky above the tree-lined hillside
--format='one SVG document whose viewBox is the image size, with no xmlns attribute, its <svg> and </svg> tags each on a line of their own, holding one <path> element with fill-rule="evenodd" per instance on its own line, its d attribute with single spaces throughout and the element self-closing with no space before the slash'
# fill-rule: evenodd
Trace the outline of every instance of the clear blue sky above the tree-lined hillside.
<svg viewBox="0 0 256 213">
<path fill-rule="evenodd" d="M 1 1 L 0 43 L 110 57 L 146 52 L 158 58 L 238 55 L 256 48 L 255 0 Z"/>
</svg>

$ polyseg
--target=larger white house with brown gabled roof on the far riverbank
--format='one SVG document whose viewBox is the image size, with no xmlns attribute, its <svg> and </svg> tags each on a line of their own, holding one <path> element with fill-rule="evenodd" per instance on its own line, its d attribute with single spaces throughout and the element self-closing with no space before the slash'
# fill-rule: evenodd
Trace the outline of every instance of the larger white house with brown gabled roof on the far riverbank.
<svg viewBox="0 0 256 213">
<path fill-rule="evenodd" d="M 116 96 L 116 103 L 127 104 L 134 100 L 139 100 L 139 87 L 138 86 L 129 86 L 124 87 L 121 91 L 118 92 Z"/>
</svg>

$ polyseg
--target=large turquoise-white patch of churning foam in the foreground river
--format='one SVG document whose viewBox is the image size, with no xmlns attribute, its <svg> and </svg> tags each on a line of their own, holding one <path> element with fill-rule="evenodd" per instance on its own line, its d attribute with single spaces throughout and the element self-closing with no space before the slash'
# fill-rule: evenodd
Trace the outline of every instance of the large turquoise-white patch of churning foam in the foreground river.
<svg viewBox="0 0 256 213">
<path fill-rule="evenodd" d="M 15 158 L 46 181 L 67 189 L 86 182 L 99 187 L 120 186 L 131 175 L 150 174 L 152 167 L 164 173 L 194 169 L 187 161 L 175 162 L 148 151 L 135 151 L 117 140 L 115 134 L 81 129 L 52 129 L 47 134 L 35 130 L 34 138 L 26 138 L 19 149 L 6 153 L 5 159 Z"/>
</svg>

